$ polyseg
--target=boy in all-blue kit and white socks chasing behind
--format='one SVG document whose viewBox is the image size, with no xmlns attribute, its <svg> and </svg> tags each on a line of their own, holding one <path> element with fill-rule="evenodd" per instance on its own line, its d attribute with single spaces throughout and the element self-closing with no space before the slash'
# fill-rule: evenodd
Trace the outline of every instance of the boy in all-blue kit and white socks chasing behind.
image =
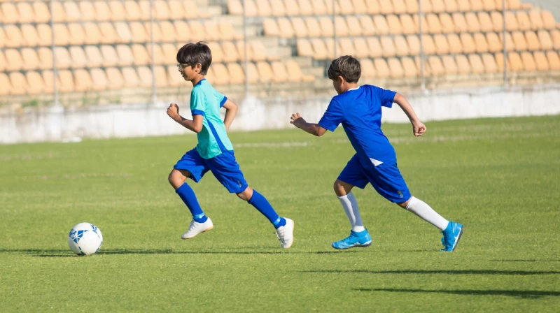
<svg viewBox="0 0 560 313">
<path fill-rule="evenodd" d="M 463 234 L 463 226 L 447 221 L 430 206 L 410 194 L 405 180 L 397 168 L 395 150 L 381 131 L 381 105 L 391 108 L 397 103 L 412 123 L 414 136 L 422 136 L 426 126 L 401 94 L 371 85 L 358 86 L 360 62 L 351 56 L 335 59 L 328 69 L 328 78 L 338 93 L 318 122 L 305 122 L 299 113 L 291 117 L 291 123 L 307 133 L 323 136 L 334 131 L 339 124 L 348 136 L 356 154 L 350 159 L 335 182 L 335 193 L 350 220 L 352 230 L 348 238 L 332 242 L 335 249 L 367 247 L 372 238 L 362 224 L 358 203 L 351 190 L 365 188 L 367 183 L 388 201 L 428 221 L 442 231 L 442 251 L 453 251 Z"/>
</svg>

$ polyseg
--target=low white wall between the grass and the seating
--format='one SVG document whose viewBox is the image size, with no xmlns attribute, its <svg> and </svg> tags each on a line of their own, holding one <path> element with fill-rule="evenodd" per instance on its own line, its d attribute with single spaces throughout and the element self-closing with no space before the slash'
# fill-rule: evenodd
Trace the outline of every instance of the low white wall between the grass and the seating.
<svg viewBox="0 0 560 313">
<path fill-rule="evenodd" d="M 478 88 L 406 95 L 425 121 L 560 114 L 560 85 Z M 232 125 L 235 130 L 290 127 L 292 112 L 309 122 L 323 115 L 330 97 L 313 99 L 246 99 Z M 188 103 L 180 105 L 188 115 Z M 167 103 L 157 105 L 103 105 L 90 108 L 50 107 L 0 116 L 0 143 L 67 140 L 73 137 L 111 138 L 188 133 L 166 114 Z M 384 122 L 407 122 L 398 106 L 384 108 Z"/>
</svg>

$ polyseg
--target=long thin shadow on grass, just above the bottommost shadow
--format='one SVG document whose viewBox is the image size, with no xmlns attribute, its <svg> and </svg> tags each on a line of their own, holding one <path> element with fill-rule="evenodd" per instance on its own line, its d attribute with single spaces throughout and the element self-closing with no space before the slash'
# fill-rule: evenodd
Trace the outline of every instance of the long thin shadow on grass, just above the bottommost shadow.
<svg viewBox="0 0 560 313">
<path fill-rule="evenodd" d="M 302 272 L 337 272 L 367 274 L 449 274 L 449 275 L 547 275 L 560 274 L 559 271 L 530 270 L 304 270 Z"/>
</svg>

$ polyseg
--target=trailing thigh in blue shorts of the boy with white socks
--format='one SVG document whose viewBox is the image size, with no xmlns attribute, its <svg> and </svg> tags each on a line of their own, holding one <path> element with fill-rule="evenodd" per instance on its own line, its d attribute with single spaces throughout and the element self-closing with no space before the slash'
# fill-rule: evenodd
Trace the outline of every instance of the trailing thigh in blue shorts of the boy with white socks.
<svg viewBox="0 0 560 313">
<path fill-rule="evenodd" d="M 367 168 L 366 175 L 377 193 L 388 201 L 402 203 L 410 198 L 410 191 L 400 175 L 396 160 Z"/>
</svg>

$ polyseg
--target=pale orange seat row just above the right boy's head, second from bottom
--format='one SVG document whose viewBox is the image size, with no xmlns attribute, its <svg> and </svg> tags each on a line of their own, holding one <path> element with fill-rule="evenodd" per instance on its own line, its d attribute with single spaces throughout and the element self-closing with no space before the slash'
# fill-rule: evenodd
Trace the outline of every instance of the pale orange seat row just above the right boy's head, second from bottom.
<svg viewBox="0 0 560 313">
<path fill-rule="evenodd" d="M 393 57 L 419 55 L 421 45 L 424 54 L 449 53 L 484 53 L 502 52 L 502 33 L 469 33 L 436 34 L 419 36 L 372 36 L 337 38 L 337 54 L 354 55 L 356 57 Z M 541 30 L 514 31 L 506 33 L 505 48 L 507 51 L 560 50 L 560 31 Z M 300 38 L 297 40 L 297 54 L 314 59 L 331 59 L 334 55 L 335 41 L 333 38 Z"/>
</svg>

